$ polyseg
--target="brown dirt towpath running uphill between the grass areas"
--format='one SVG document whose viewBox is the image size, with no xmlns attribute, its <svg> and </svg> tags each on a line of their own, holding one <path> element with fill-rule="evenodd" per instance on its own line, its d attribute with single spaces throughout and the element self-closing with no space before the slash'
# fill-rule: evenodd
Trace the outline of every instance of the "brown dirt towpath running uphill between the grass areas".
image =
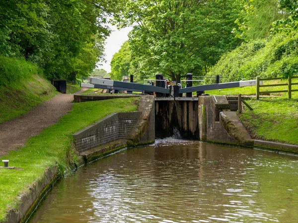
<svg viewBox="0 0 298 223">
<path fill-rule="evenodd" d="M 76 94 L 86 91 L 82 88 Z M 28 113 L 0 124 L 0 156 L 9 150 L 23 146 L 26 139 L 37 135 L 44 128 L 58 122 L 58 119 L 72 111 L 74 95 L 58 94 Z"/>
</svg>

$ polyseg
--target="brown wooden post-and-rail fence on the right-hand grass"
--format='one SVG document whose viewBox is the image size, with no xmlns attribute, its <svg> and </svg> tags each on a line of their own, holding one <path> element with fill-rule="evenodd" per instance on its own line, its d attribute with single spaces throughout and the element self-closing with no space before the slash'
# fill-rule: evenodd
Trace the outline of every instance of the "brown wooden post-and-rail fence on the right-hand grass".
<svg viewBox="0 0 298 223">
<path fill-rule="evenodd" d="M 292 90 L 292 86 L 293 85 L 298 85 L 298 83 L 292 83 L 292 79 L 298 78 L 298 76 L 289 76 L 288 83 L 285 84 L 263 84 L 260 85 L 260 81 L 264 81 L 264 80 L 280 80 L 280 77 L 277 78 L 260 78 L 257 77 L 257 83 L 256 83 L 256 96 L 257 96 L 257 100 L 260 98 L 260 94 L 270 94 L 270 93 L 284 93 L 284 92 L 288 92 L 288 96 L 289 98 L 292 97 L 292 92 L 298 91 L 298 89 L 296 90 Z M 278 90 L 278 91 L 260 91 L 260 88 L 262 87 L 276 87 L 276 86 L 288 86 L 287 90 Z"/>
</svg>

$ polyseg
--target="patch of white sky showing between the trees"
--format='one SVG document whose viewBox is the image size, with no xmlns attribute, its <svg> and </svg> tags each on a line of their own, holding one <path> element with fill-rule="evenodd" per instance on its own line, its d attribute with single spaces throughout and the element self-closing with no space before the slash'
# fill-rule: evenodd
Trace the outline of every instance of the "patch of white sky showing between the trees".
<svg viewBox="0 0 298 223">
<path fill-rule="evenodd" d="M 109 25 L 109 27 L 111 28 L 112 33 L 106 40 L 104 50 L 106 62 L 102 63 L 102 65 L 97 66 L 97 68 L 102 68 L 108 73 L 111 72 L 110 62 L 113 55 L 117 53 L 120 50 L 122 44 L 128 40 L 127 35 L 133 29 L 132 27 L 126 27 L 124 29 L 117 30 L 116 26 Z"/>
</svg>

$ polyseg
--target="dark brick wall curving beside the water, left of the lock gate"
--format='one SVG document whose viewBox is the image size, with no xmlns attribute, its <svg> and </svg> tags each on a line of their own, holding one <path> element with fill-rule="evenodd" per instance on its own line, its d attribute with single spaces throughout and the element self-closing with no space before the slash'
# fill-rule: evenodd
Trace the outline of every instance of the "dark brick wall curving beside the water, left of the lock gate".
<svg viewBox="0 0 298 223">
<path fill-rule="evenodd" d="M 141 113 L 139 111 L 113 113 L 74 133 L 75 148 L 78 152 L 84 152 L 114 140 L 125 139 Z"/>
</svg>

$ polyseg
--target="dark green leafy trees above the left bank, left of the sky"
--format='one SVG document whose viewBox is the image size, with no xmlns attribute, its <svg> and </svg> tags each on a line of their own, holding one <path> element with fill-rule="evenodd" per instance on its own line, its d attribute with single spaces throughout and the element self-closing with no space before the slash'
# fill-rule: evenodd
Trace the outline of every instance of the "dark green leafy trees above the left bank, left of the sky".
<svg viewBox="0 0 298 223">
<path fill-rule="evenodd" d="M 111 0 L 0 1 L 0 55 L 37 63 L 48 79 L 88 76 L 117 10 Z"/>
</svg>

